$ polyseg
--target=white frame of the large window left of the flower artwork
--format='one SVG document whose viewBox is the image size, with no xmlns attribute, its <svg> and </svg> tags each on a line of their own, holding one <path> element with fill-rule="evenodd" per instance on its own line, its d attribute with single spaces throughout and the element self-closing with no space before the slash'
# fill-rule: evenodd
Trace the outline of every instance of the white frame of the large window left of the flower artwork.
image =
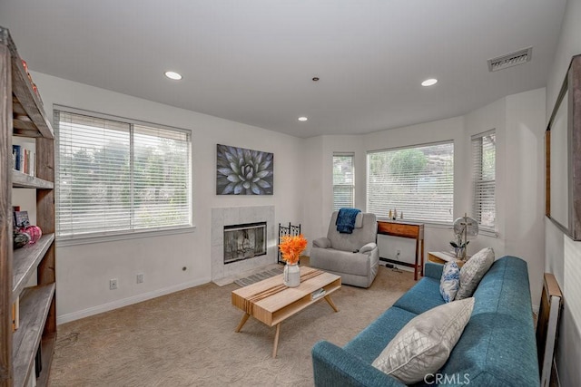
<svg viewBox="0 0 581 387">
<path fill-rule="evenodd" d="M 91 243 L 99 243 L 99 242 L 108 242 L 108 241 L 116 241 L 116 240 L 125 240 L 125 239 L 133 239 L 133 238 L 142 238 L 142 237 L 158 237 L 163 235 L 174 235 L 174 234 L 182 234 L 182 233 L 191 233 L 196 228 L 194 223 L 194 211 L 193 211 L 193 198 L 194 198 L 194 186 L 193 186 L 193 133 L 192 131 L 185 130 L 182 128 L 176 128 L 169 125 L 163 125 L 159 123 L 153 123 L 148 121 L 140 121 L 129 119 L 125 117 L 116 116 L 113 114 L 104 114 L 97 111 L 88 111 L 84 109 L 77 109 L 72 108 L 69 106 L 58 105 L 54 104 L 53 106 L 53 118 L 56 119 L 57 112 L 64 112 L 64 113 L 71 113 L 71 114 L 79 114 L 84 115 L 100 120 L 107 120 L 107 121 L 117 121 L 122 122 L 123 124 L 127 124 L 129 126 L 143 126 L 153 129 L 160 129 L 163 131 L 175 131 L 181 132 L 187 135 L 188 137 L 188 181 L 189 181 L 189 224 L 187 225 L 173 225 L 173 226 L 163 226 L 163 227 L 146 227 L 146 228 L 127 228 L 123 230 L 110 230 L 110 231 L 98 231 L 92 233 L 85 233 L 85 234 L 77 234 L 77 235 L 58 235 L 58 226 L 55 230 L 55 239 L 58 246 L 74 246 L 74 245 L 84 245 L 84 244 L 91 244 Z M 59 123 L 54 122 L 55 128 L 55 154 L 54 154 L 54 176 L 55 176 L 55 188 L 57 187 L 58 183 L 58 176 L 60 173 L 60 135 L 59 135 Z M 133 132 L 133 131 L 132 131 Z M 133 146 L 133 135 L 130 136 L 130 141 Z M 130 158 L 130 165 L 133 169 L 133 150 L 131 150 L 131 158 Z M 133 172 L 132 172 L 133 175 Z M 132 183 L 133 185 L 133 183 Z M 59 204 L 59 196 L 60 196 L 60 189 L 54 190 L 54 202 L 55 206 L 58 207 Z M 130 209 L 130 212 L 133 214 L 133 208 Z M 58 222 L 58 218 L 56 219 Z"/>
</svg>

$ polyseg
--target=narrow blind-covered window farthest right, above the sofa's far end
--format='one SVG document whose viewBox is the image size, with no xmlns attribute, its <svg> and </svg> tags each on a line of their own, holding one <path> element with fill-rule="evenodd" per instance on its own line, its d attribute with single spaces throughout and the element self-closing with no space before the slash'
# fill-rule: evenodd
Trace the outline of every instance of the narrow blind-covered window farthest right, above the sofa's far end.
<svg viewBox="0 0 581 387">
<path fill-rule="evenodd" d="M 482 229 L 490 231 L 495 229 L 496 218 L 496 143 L 495 131 L 487 131 L 472 137 L 474 184 L 472 216 L 478 220 Z"/>
</svg>

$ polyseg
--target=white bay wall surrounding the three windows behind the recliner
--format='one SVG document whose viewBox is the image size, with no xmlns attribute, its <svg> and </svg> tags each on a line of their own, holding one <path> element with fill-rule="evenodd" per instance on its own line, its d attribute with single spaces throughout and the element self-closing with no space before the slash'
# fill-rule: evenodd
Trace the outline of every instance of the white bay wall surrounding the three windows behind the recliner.
<svg viewBox="0 0 581 387">
<path fill-rule="evenodd" d="M 409 127 L 359 136 L 323 136 L 308 139 L 309 151 L 317 152 L 314 166 L 323 184 L 314 191 L 322 206 L 316 214 L 305 214 L 310 229 L 326 235 L 332 205 L 332 153 L 349 150 L 356 154 L 356 207 L 366 208 L 366 154 L 369 150 L 417 145 L 443 140 L 454 141 L 454 218 L 471 211 L 471 148 L 473 134 L 495 129 L 497 132 L 497 227 L 498 237 L 484 234 L 474 239 L 468 252 L 493 247 L 497 257 L 519 256 L 528 263 L 533 307 L 538 308 L 545 248 L 544 215 L 544 131 L 545 89 L 501 98 L 465 116 L 432 121 Z M 322 153 L 322 154 L 321 154 Z M 312 160 L 313 156 L 311 155 Z M 307 159 L 307 158 L 305 158 Z M 309 170 L 306 170 L 308 173 Z M 311 176 L 311 175 L 310 175 Z M 319 200 L 319 198 L 317 198 Z M 313 223 L 314 222 L 314 223 Z M 447 251 L 452 239 L 450 227 L 426 225 L 425 251 Z M 380 256 L 413 263 L 415 244 L 411 239 L 378 237 Z"/>
</svg>

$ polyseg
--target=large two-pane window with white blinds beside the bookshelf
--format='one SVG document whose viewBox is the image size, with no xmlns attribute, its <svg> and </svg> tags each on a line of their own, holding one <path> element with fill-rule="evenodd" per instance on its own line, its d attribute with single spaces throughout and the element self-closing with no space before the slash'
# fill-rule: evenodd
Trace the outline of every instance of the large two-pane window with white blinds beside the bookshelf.
<svg viewBox="0 0 581 387">
<path fill-rule="evenodd" d="M 192 225 L 189 132 L 54 111 L 57 235 Z"/>
</svg>

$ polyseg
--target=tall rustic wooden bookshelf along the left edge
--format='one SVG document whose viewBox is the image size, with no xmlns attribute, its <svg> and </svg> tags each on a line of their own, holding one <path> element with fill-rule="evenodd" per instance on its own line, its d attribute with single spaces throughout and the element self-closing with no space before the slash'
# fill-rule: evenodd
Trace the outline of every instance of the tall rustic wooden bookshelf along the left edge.
<svg viewBox="0 0 581 387">
<path fill-rule="evenodd" d="M 34 92 L 16 46 L 0 27 L 0 386 L 24 386 L 34 378 L 41 346 L 43 369 L 36 385 L 48 384 L 56 337 L 54 248 L 54 131 Z M 13 169 L 13 136 L 34 138 L 35 174 Z M 44 236 L 13 250 L 12 189 L 36 192 L 36 225 Z M 25 287 L 36 276 L 34 286 Z M 19 327 L 12 305 L 19 299 Z"/>
</svg>

